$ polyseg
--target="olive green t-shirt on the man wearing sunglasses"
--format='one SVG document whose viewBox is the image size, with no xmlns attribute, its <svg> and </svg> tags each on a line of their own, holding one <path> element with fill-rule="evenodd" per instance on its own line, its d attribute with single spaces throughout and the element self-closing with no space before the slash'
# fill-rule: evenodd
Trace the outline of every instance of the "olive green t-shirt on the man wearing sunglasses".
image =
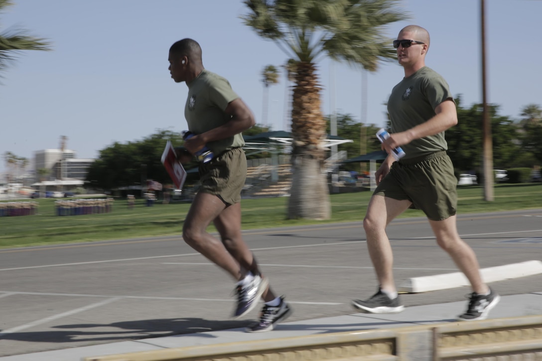
<svg viewBox="0 0 542 361">
<path fill-rule="evenodd" d="M 388 101 L 388 114 L 391 120 L 391 133 L 409 130 L 433 118 L 435 108 L 451 96 L 448 83 L 433 69 L 423 67 L 404 78 L 391 91 Z M 444 132 L 402 145 L 403 159 L 425 156 L 430 153 L 448 150 Z"/>
</svg>

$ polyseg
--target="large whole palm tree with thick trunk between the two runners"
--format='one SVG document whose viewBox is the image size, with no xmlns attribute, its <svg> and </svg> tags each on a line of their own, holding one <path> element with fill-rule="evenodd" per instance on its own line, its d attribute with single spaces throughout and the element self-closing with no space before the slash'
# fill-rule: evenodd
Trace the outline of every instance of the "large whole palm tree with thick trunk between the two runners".
<svg viewBox="0 0 542 361">
<path fill-rule="evenodd" d="M 297 61 L 292 100 L 292 189 L 288 218 L 327 219 L 331 203 L 323 168 L 325 120 L 317 62 L 326 55 L 371 72 L 396 51 L 386 25 L 407 18 L 398 0 L 244 0 L 241 18 Z"/>
</svg>

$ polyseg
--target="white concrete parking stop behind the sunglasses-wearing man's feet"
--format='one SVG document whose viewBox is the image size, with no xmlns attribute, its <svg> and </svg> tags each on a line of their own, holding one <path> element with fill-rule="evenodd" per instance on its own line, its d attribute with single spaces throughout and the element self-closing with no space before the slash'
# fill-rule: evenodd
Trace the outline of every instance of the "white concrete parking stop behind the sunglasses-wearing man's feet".
<svg viewBox="0 0 542 361">
<path fill-rule="evenodd" d="M 541 273 L 541 261 L 526 261 L 480 269 L 482 280 L 487 283 L 532 276 Z M 437 274 L 433 276 L 409 278 L 398 287 L 397 291 L 408 293 L 421 293 L 469 285 L 470 283 L 463 273 L 454 272 Z"/>
</svg>

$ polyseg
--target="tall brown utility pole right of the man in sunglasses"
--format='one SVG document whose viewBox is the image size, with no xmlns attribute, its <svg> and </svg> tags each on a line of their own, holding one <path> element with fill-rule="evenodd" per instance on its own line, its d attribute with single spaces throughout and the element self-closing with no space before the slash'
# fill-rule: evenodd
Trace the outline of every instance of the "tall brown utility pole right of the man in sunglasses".
<svg viewBox="0 0 542 361">
<path fill-rule="evenodd" d="M 487 78 L 486 78 L 486 6 L 485 0 L 481 3 L 482 23 L 482 143 L 483 143 L 483 197 L 488 202 L 493 202 L 493 140 L 491 137 L 491 123 L 487 109 Z"/>
</svg>

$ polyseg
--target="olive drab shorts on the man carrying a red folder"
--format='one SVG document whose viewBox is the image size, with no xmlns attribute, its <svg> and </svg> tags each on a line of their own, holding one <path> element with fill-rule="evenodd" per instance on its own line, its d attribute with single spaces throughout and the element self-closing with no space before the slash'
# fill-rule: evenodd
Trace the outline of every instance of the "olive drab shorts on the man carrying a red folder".
<svg viewBox="0 0 542 361">
<path fill-rule="evenodd" d="M 241 202 L 247 178 L 247 157 L 242 148 L 233 148 L 199 165 L 199 192 L 214 194 L 225 204 Z"/>
</svg>

